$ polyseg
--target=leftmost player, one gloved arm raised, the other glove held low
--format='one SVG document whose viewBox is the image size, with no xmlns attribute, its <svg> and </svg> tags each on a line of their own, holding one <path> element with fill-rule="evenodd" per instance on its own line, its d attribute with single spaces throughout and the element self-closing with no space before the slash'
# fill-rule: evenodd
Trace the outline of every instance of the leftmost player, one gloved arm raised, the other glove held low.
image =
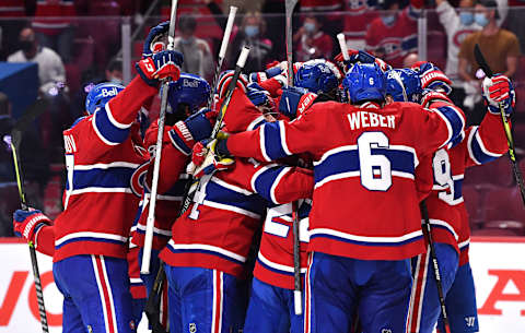
<svg viewBox="0 0 525 333">
<path fill-rule="evenodd" d="M 24 238 L 52 236 L 45 239 L 54 248 L 55 283 L 65 296 L 63 332 L 136 331 L 126 254 L 138 199 L 129 182 L 147 156 L 132 123 L 160 80 L 178 79 L 182 61 L 180 53 L 162 51 L 137 63 L 139 76 L 126 88 L 95 86 L 86 98 L 89 116 L 63 132 L 65 211 L 54 227 L 40 211 L 14 214 Z"/>
</svg>

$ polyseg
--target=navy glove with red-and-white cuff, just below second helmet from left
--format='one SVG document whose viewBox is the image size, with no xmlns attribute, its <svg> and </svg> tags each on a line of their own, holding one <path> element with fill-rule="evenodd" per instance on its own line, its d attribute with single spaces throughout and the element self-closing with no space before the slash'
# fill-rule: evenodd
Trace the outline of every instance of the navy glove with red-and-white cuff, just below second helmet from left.
<svg viewBox="0 0 525 333">
<path fill-rule="evenodd" d="M 189 156 L 196 142 L 211 135 L 215 124 L 217 111 L 202 108 L 186 120 L 180 120 L 168 131 L 172 144 L 184 155 Z"/>
</svg>

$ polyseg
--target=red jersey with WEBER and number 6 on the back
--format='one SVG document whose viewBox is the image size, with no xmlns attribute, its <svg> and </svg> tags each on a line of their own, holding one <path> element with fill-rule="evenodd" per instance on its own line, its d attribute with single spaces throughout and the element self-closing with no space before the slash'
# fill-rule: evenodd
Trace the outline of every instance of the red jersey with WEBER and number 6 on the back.
<svg viewBox="0 0 525 333">
<path fill-rule="evenodd" d="M 450 105 L 429 111 L 411 103 L 380 109 L 327 102 L 294 121 L 233 134 L 228 148 L 259 160 L 312 155 L 308 250 L 400 260 L 424 251 L 415 186 L 419 156 L 451 142 L 464 126 L 463 111 Z"/>
</svg>

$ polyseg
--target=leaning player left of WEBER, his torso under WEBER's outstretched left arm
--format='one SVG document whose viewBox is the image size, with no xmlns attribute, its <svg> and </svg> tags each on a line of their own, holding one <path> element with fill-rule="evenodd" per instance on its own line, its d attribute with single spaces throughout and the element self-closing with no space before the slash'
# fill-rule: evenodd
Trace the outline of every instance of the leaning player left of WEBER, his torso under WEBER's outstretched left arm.
<svg viewBox="0 0 525 333">
<path fill-rule="evenodd" d="M 231 78 L 226 72 L 219 80 L 221 98 Z M 244 78 L 237 81 L 224 119 L 228 131 L 259 123 L 261 114 L 248 99 L 245 84 Z M 295 195 L 308 197 L 312 191 L 312 175 L 294 173 L 293 168 L 247 159 L 229 167 L 228 171 L 202 176 L 192 204 L 173 224 L 172 239 L 160 255 L 165 262 L 170 322 L 175 332 L 242 329 L 246 257 L 266 211 L 264 198 L 282 203 L 300 198 Z M 298 191 L 301 188 L 307 193 Z"/>
</svg>

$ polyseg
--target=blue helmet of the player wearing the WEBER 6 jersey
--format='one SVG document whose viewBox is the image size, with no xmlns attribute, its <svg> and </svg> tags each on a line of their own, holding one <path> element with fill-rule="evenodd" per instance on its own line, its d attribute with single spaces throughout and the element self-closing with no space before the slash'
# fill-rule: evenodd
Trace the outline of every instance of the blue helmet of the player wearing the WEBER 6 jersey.
<svg viewBox="0 0 525 333">
<path fill-rule="evenodd" d="M 347 72 L 342 86 L 351 104 L 385 99 L 386 79 L 377 63 L 355 63 Z"/>
</svg>

